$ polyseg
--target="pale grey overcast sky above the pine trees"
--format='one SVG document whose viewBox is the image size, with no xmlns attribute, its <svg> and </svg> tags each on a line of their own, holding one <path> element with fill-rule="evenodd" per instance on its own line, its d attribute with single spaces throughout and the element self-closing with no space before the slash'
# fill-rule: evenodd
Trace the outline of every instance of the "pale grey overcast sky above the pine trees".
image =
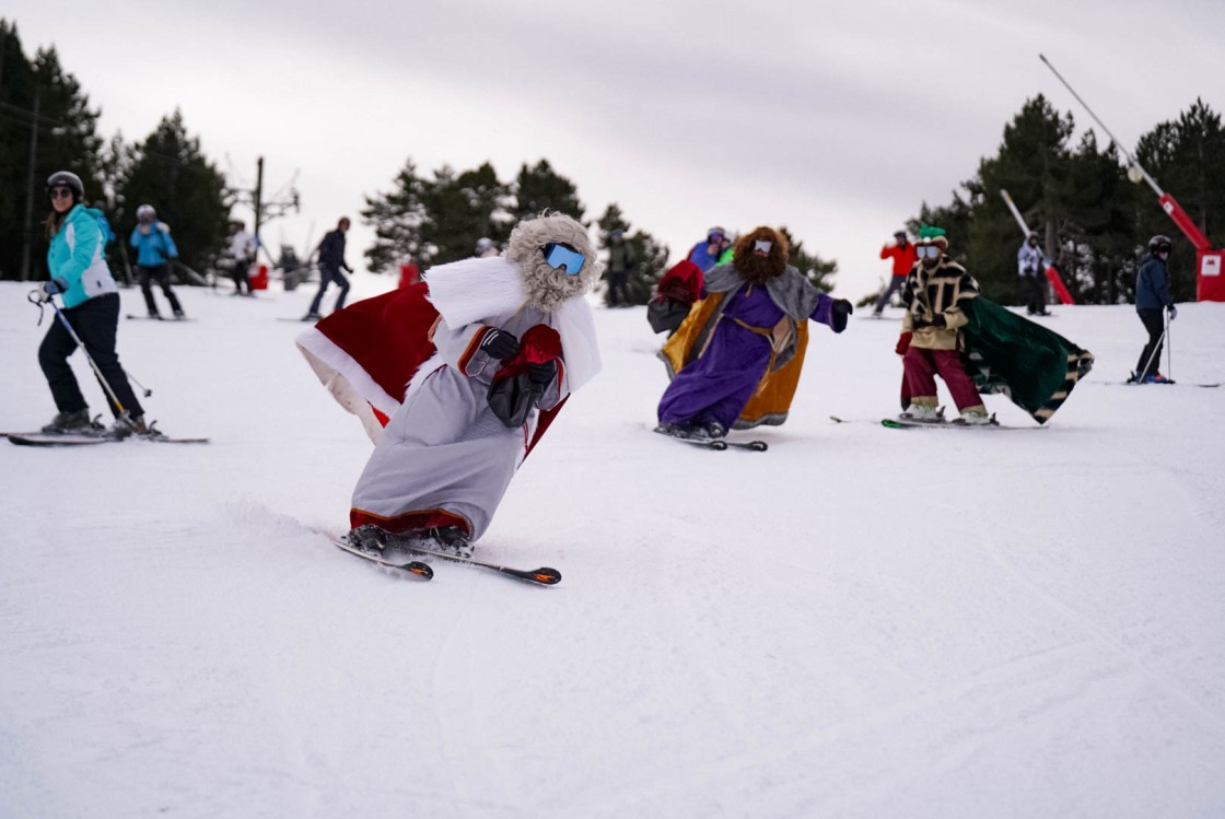
<svg viewBox="0 0 1225 819">
<path fill-rule="evenodd" d="M 104 137 L 143 140 L 178 107 L 232 185 L 260 155 L 267 192 L 296 174 L 303 211 L 266 244 L 317 242 L 349 214 L 354 266 L 363 195 L 408 158 L 489 160 L 502 180 L 545 158 L 586 219 L 616 202 L 674 262 L 710 225 L 786 225 L 858 297 L 888 274 L 881 245 L 949 201 L 1027 99 L 1091 125 L 1039 53 L 1128 151 L 1197 97 L 1225 111 L 1221 0 L 9 0 L 0 15 L 27 55 L 55 45 Z"/>
</svg>

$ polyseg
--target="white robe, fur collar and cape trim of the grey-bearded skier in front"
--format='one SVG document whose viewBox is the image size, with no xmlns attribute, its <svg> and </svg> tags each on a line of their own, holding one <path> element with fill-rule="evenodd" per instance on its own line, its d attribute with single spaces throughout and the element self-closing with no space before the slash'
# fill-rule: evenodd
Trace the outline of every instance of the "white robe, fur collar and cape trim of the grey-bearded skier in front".
<svg viewBox="0 0 1225 819">
<path fill-rule="evenodd" d="M 441 317 L 434 331 L 437 351 L 418 368 L 386 428 L 371 431 L 375 452 L 354 488 L 353 517 L 401 531 L 407 522 L 441 510 L 462 519 L 477 540 L 527 454 L 539 410 L 556 406 L 599 371 L 594 322 L 582 297 L 549 313 L 527 306 L 518 268 L 505 258 L 441 266 L 429 272 L 426 282 Z M 522 337 L 534 324 L 548 324 L 561 337 L 560 377 L 526 424 L 508 428 L 486 398 L 501 362 L 478 343 L 486 327 Z M 299 346 L 337 399 L 363 416 L 352 395 L 342 398 L 347 392 L 369 392 L 363 388 L 363 373 L 339 375 L 348 366 L 343 351 L 326 350 L 325 342 L 307 332 Z M 328 364 L 321 364 L 325 359 Z M 366 400 L 386 411 L 388 395 L 379 391 Z"/>
</svg>

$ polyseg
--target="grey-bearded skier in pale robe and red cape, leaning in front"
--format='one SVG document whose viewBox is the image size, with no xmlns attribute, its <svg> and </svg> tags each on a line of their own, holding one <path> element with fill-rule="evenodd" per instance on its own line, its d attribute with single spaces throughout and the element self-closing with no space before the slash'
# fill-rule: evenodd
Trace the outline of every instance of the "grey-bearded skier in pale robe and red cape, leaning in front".
<svg viewBox="0 0 1225 819">
<path fill-rule="evenodd" d="M 600 272 L 583 225 L 546 213 L 516 225 L 505 255 L 435 267 L 299 337 L 376 443 L 353 542 L 470 553 L 552 415 L 600 370 L 582 297 Z"/>
</svg>

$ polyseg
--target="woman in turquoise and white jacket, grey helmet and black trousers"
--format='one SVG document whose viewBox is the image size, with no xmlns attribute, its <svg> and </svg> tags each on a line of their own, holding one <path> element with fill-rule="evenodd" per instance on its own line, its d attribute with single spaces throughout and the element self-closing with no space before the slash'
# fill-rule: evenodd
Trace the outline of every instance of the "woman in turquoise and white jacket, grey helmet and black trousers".
<svg viewBox="0 0 1225 819">
<path fill-rule="evenodd" d="M 47 266 L 51 279 L 43 284 L 42 297 L 47 301 L 59 295 L 64 300 L 64 317 L 123 404 L 121 411 L 111 402 L 115 424 L 107 433 L 127 437 L 134 432 L 146 432 L 145 411 L 115 353 L 119 288 L 103 258 L 110 230 L 107 218 L 100 211 L 85 207 L 85 185 L 76 174 L 66 170 L 51 174 L 47 179 L 47 193 L 51 198 L 51 213 L 47 218 L 47 233 L 51 240 Z M 69 365 L 69 356 L 76 348 L 77 343 L 67 328 L 60 321 L 53 321 L 38 348 L 38 364 L 47 376 L 59 413 L 43 427 L 44 432 L 99 431 L 89 420 L 88 404 Z M 108 393 L 105 387 L 103 393 Z"/>
</svg>

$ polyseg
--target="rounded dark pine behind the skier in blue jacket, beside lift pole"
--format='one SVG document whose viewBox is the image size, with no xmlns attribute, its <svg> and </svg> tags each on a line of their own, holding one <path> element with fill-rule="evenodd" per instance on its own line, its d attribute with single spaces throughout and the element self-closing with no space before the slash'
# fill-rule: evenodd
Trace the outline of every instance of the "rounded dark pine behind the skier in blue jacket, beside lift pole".
<svg viewBox="0 0 1225 819">
<path fill-rule="evenodd" d="M 203 269 L 222 252 L 229 233 L 225 178 L 203 155 L 200 140 L 189 136 L 183 114 L 162 118 L 143 142 L 126 149 L 116 180 L 111 218 L 119 240 L 136 228 L 136 209 L 151 204 L 179 247 L 189 268 Z"/>
</svg>

